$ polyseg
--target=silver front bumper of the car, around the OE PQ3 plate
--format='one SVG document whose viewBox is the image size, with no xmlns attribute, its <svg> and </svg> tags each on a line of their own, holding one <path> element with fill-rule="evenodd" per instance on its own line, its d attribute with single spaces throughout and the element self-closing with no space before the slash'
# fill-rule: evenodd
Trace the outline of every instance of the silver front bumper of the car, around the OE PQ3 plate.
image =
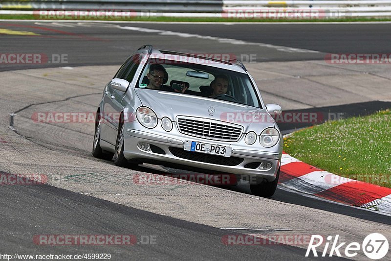
<svg viewBox="0 0 391 261">
<path fill-rule="evenodd" d="M 175 128 L 175 124 L 170 132 L 164 131 L 160 124 L 154 129 L 146 129 L 137 121 L 125 122 L 125 129 L 124 156 L 128 160 L 190 166 L 208 170 L 209 173 L 216 171 L 216 173 L 240 175 L 242 178 L 245 178 L 245 176 L 255 177 L 257 181 L 259 179 L 273 181 L 276 178 L 281 162 L 282 138 L 270 150 L 260 151 L 249 149 L 250 145 L 243 144 L 244 134 L 242 134 L 238 142 L 221 142 L 179 133 Z M 231 147 L 231 157 L 185 151 L 183 149 L 185 141 Z M 148 143 L 151 149 L 153 149 L 151 151 L 143 150 L 138 146 L 139 142 Z M 156 147 L 160 149 L 156 149 Z M 262 161 L 271 163 L 271 168 L 266 170 L 258 169 L 257 163 Z"/>
</svg>

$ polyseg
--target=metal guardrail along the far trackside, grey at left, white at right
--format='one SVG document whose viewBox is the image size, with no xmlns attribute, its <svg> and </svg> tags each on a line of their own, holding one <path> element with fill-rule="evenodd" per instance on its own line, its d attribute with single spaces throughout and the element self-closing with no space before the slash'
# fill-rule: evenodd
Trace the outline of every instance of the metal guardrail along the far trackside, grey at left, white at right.
<svg viewBox="0 0 391 261">
<path fill-rule="evenodd" d="M 164 17 L 247 19 L 300 19 L 299 12 L 312 14 L 304 18 L 391 17 L 391 0 L 0 0 L 0 14 L 37 10 L 122 10 L 135 12 L 134 16 L 150 12 Z"/>
</svg>

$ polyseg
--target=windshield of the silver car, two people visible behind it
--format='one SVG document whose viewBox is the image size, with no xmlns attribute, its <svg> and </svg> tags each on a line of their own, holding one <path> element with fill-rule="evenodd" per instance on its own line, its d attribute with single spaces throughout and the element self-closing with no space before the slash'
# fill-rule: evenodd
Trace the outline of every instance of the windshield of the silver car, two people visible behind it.
<svg viewBox="0 0 391 261">
<path fill-rule="evenodd" d="M 161 71 L 161 66 L 166 72 Z M 150 79 L 156 79 L 156 82 L 151 83 Z M 136 85 L 136 88 L 145 90 L 157 89 L 173 93 L 181 93 L 183 87 L 188 87 L 184 94 L 261 107 L 246 73 L 203 64 L 162 59 L 157 63 L 156 59 L 150 58 Z"/>
</svg>

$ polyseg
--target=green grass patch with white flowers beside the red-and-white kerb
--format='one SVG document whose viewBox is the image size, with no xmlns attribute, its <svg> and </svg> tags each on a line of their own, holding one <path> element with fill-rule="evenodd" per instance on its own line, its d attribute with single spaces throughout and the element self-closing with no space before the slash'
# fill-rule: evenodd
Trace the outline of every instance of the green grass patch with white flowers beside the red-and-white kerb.
<svg viewBox="0 0 391 261">
<path fill-rule="evenodd" d="M 391 111 L 295 132 L 284 151 L 331 173 L 391 188 Z"/>
</svg>

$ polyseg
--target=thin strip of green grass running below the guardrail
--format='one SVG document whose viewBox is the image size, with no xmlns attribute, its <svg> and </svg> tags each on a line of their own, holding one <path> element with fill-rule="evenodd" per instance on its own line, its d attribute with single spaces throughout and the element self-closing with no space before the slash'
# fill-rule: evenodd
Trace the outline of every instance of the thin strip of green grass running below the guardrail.
<svg viewBox="0 0 391 261">
<path fill-rule="evenodd" d="M 0 15 L 0 19 L 38 19 L 36 15 Z M 49 19 L 50 20 L 50 19 Z M 66 20 L 66 19 L 65 19 Z M 130 18 L 130 19 L 81 19 L 87 21 L 138 21 L 138 22 L 385 22 L 390 18 L 345 18 L 345 19 L 239 19 L 239 18 L 183 18 L 183 17 L 150 17 L 150 18 Z M 55 21 L 55 19 L 53 20 Z M 72 21 L 70 19 L 69 21 Z"/>
</svg>

